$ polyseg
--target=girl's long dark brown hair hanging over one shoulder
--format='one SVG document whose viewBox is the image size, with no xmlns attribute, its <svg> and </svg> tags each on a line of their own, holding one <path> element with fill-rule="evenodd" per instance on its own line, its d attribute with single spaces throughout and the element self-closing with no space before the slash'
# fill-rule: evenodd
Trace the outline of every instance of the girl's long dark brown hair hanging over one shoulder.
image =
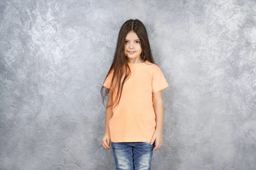
<svg viewBox="0 0 256 170">
<path fill-rule="evenodd" d="M 138 20 L 127 20 L 125 23 L 123 23 L 122 27 L 120 28 L 119 34 L 118 34 L 118 39 L 117 39 L 117 44 L 116 44 L 116 52 L 113 57 L 113 62 L 111 64 L 111 67 L 108 71 L 108 74 L 105 78 L 107 79 L 108 75 L 111 74 L 111 71 L 113 71 L 113 77 L 111 80 L 111 87 L 113 87 L 113 92 L 112 95 L 109 96 L 111 97 L 111 102 L 109 105 L 107 105 L 106 108 L 111 107 L 116 103 L 118 105 L 121 95 L 122 95 L 122 89 L 123 85 L 128 79 L 128 77 L 131 75 L 131 69 L 126 61 L 126 56 L 124 53 L 124 48 L 125 48 L 125 36 L 130 32 L 134 31 L 137 36 L 139 37 L 141 41 L 141 47 L 142 47 L 142 53 L 141 53 L 141 58 L 145 61 L 148 60 L 151 63 L 154 63 L 152 54 L 151 54 L 151 48 L 149 45 L 148 41 L 148 34 L 145 26 L 143 23 Z M 125 74 L 124 74 L 125 73 Z M 104 99 L 105 96 L 109 93 L 109 89 L 105 88 L 106 90 L 103 91 L 105 87 L 102 85 L 101 88 L 101 95 L 103 99 L 103 105 L 104 105 Z M 113 99 L 113 94 L 115 94 L 115 99 Z M 105 106 L 105 105 L 104 105 Z M 116 107 L 116 106 L 115 106 Z"/>
</svg>

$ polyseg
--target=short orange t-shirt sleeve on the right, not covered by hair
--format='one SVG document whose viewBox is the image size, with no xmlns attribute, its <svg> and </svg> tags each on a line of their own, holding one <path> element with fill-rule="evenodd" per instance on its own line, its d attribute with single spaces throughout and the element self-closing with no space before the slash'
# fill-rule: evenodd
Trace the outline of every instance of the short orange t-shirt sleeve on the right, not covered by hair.
<svg viewBox="0 0 256 170">
<path fill-rule="evenodd" d="M 169 87 L 166 82 L 165 77 L 158 65 L 152 65 L 153 74 L 152 74 L 152 93 L 161 91 Z"/>
</svg>

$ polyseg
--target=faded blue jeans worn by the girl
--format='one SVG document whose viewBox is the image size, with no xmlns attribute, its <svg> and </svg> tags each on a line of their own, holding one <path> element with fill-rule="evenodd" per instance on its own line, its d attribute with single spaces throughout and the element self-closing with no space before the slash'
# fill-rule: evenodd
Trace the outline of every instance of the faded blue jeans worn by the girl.
<svg viewBox="0 0 256 170">
<path fill-rule="evenodd" d="M 116 170 L 151 170 L 154 144 L 150 142 L 111 142 Z"/>
</svg>

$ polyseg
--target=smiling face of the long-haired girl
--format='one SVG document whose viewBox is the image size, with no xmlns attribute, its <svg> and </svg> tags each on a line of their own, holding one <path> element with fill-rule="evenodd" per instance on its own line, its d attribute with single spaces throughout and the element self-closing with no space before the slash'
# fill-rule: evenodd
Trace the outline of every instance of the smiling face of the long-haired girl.
<svg viewBox="0 0 256 170">
<path fill-rule="evenodd" d="M 134 52 L 128 52 L 134 51 Z M 140 54 L 142 52 L 141 42 L 139 37 L 135 32 L 129 32 L 125 36 L 125 56 L 129 59 L 140 59 Z"/>
</svg>

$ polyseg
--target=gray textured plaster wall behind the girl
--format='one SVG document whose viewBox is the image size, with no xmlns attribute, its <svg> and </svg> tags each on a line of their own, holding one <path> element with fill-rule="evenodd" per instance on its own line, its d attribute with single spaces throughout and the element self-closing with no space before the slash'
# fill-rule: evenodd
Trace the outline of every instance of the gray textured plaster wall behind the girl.
<svg viewBox="0 0 256 170">
<path fill-rule="evenodd" d="M 152 170 L 256 169 L 256 1 L 1 0 L 0 170 L 113 170 L 99 89 L 140 19 L 170 88 Z"/>
</svg>

